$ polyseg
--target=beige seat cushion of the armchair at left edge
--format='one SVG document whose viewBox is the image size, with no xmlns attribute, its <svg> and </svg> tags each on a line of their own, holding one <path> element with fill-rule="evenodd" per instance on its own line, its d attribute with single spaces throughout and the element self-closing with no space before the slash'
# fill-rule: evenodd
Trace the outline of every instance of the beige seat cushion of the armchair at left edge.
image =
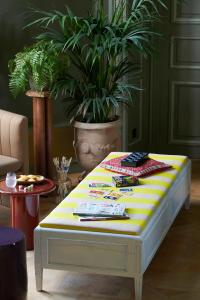
<svg viewBox="0 0 200 300">
<path fill-rule="evenodd" d="M 0 176 L 7 172 L 16 172 L 22 166 L 22 163 L 14 157 L 0 155 Z"/>
</svg>

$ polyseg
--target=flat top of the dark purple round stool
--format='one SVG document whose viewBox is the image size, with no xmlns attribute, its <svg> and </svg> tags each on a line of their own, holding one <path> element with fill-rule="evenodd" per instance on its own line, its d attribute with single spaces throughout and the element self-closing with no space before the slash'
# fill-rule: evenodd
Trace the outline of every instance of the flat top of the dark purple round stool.
<svg viewBox="0 0 200 300">
<path fill-rule="evenodd" d="M 22 231 L 16 228 L 0 227 L 0 246 L 13 245 L 23 239 Z"/>
</svg>

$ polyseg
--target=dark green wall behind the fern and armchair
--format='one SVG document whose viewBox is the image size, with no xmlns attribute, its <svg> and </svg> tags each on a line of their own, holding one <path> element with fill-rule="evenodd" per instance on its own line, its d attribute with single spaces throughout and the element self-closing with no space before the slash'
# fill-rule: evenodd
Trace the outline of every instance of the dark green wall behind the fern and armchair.
<svg viewBox="0 0 200 300">
<path fill-rule="evenodd" d="M 6 0 L 0 1 L 0 108 L 23 114 L 29 118 L 32 124 L 32 103 L 25 95 L 16 99 L 8 89 L 8 61 L 23 49 L 24 46 L 33 42 L 34 33 L 37 29 L 23 29 L 30 20 L 29 7 L 44 10 L 64 9 L 68 5 L 77 15 L 84 15 L 92 7 L 92 0 Z M 66 124 L 64 104 L 54 101 L 54 125 Z"/>
</svg>

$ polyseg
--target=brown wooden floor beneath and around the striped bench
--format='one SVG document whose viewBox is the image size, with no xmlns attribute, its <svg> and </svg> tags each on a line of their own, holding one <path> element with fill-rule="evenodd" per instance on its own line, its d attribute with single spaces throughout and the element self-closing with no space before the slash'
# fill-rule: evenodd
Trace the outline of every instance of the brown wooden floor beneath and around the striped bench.
<svg viewBox="0 0 200 300">
<path fill-rule="evenodd" d="M 191 207 L 182 209 L 144 275 L 143 300 L 200 300 L 200 162 L 192 168 Z M 54 204 L 41 203 L 41 217 Z M 9 210 L 0 209 L 0 225 L 9 224 Z M 132 279 L 44 272 L 43 293 L 34 282 L 33 252 L 27 252 L 28 300 L 133 300 Z"/>
</svg>

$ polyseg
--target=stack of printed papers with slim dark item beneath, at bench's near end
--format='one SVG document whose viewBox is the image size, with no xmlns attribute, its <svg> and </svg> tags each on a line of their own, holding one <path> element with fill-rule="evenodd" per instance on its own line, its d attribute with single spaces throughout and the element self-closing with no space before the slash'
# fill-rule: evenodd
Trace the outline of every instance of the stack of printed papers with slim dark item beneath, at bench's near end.
<svg viewBox="0 0 200 300">
<path fill-rule="evenodd" d="M 105 221 L 129 219 L 123 203 L 82 202 L 73 212 L 80 221 Z"/>
</svg>

